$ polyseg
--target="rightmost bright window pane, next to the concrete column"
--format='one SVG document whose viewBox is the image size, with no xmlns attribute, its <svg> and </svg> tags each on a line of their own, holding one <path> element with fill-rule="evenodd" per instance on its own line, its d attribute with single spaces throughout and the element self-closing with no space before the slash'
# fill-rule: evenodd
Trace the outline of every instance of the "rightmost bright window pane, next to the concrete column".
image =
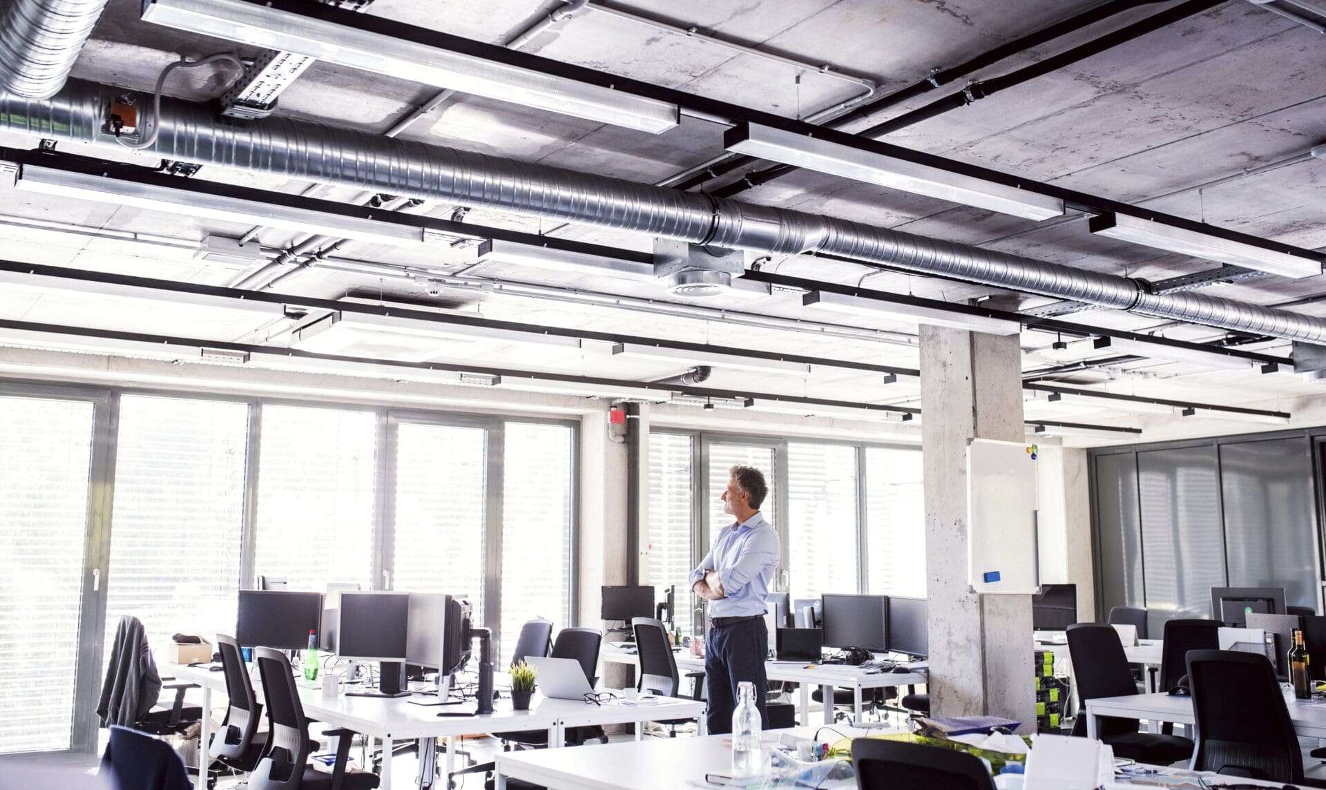
<svg viewBox="0 0 1326 790">
<path fill-rule="evenodd" d="M 866 550 L 871 592 L 926 598 L 920 449 L 866 448 Z"/>
</svg>

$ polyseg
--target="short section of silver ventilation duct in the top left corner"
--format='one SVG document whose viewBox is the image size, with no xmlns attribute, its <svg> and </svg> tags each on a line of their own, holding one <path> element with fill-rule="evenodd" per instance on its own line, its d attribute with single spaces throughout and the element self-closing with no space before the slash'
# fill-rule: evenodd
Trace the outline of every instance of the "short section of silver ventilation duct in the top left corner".
<svg viewBox="0 0 1326 790">
<path fill-rule="evenodd" d="M 0 87 L 50 98 L 69 78 L 106 0 L 9 0 L 0 11 Z"/>
</svg>

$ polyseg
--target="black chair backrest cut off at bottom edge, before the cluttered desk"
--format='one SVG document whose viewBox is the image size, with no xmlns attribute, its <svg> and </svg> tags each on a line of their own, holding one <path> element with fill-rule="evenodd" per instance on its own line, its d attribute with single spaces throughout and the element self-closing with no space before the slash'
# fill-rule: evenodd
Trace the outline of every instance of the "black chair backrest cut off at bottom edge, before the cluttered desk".
<svg viewBox="0 0 1326 790">
<path fill-rule="evenodd" d="M 994 790 L 994 779 L 980 757 L 939 746 L 855 738 L 851 765 L 858 790 Z"/>
</svg>

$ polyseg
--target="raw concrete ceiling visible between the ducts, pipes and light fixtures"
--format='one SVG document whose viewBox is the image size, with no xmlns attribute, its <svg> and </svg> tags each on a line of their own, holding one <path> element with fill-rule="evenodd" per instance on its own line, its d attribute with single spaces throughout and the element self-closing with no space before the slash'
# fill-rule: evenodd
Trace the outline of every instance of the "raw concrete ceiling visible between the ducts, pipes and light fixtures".
<svg viewBox="0 0 1326 790">
<path fill-rule="evenodd" d="M 375 0 L 365 13 L 505 44 L 562 5 L 537 0 L 457 1 L 448 3 L 446 12 L 439 13 L 435 0 Z M 875 97 L 886 95 L 924 78 L 932 69 L 951 66 L 1094 5 L 1098 4 L 1037 0 L 594 1 L 548 27 L 522 50 L 784 117 L 805 118 L 845 103 L 842 109 L 850 109 L 853 102 L 866 97 L 863 81 L 878 85 Z M 1006 58 L 972 77 L 1012 72 L 1172 5 L 1138 4 L 1135 9 Z M 225 40 L 143 23 L 139 7 L 138 0 L 110 1 L 74 65 L 73 77 L 150 91 L 160 69 L 180 54 L 199 57 L 235 49 L 235 44 Z M 623 17 L 621 12 L 629 13 Z M 647 19 L 660 24 L 648 24 Z M 687 36 L 688 28 L 781 60 Z M 240 48 L 240 52 L 259 54 L 256 49 Z M 805 68 L 786 61 L 800 61 Z M 1326 73 L 1326 44 L 1319 33 L 1254 4 L 1229 0 L 968 107 L 899 130 L 887 142 L 1317 249 L 1326 247 L 1326 160 L 1305 154 L 1326 142 L 1322 73 Z M 235 70 L 224 64 L 176 73 L 167 82 L 166 93 L 194 101 L 211 99 L 233 77 Z M 859 130 L 960 87 L 957 84 L 936 90 L 847 130 Z M 317 62 L 281 94 L 277 115 L 385 133 L 436 94 L 436 87 Z M 724 129 L 719 123 L 683 117 L 676 129 L 648 135 L 455 94 L 399 137 L 660 183 L 721 154 Z M 36 143 L 32 137 L 0 135 L 0 144 L 16 148 L 30 148 Z M 66 151 L 70 146 L 61 143 L 58 150 Z M 156 163 L 156 158 L 114 147 L 80 148 L 77 152 Z M 1268 164 L 1272 167 L 1265 167 Z M 737 171 L 705 188 L 731 183 L 740 175 Z M 192 178 L 289 194 L 302 194 L 310 187 L 216 166 L 206 166 Z M 239 239 L 249 233 L 252 225 L 0 190 L 5 199 L 0 239 L 4 240 L 3 257 L 8 260 L 210 285 L 235 284 L 265 266 L 267 258 L 210 261 L 199 254 L 204 237 Z M 314 187 L 312 195 L 355 203 L 367 198 L 353 190 L 330 187 Z M 1207 260 L 1163 254 L 1093 236 L 1086 232 L 1085 215 L 1070 213 L 1062 220 L 1037 224 L 809 171 L 745 191 L 740 199 L 1148 281 L 1219 266 Z M 455 208 L 427 203 L 410 211 L 450 217 Z M 652 244 L 639 233 L 561 225 L 495 211 L 473 209 L 464 220 L 626 249 L 648 251 Z M 280 249 L 297 243 L 302 235 L 263 229 L 255 237 L 265 248 Z M 731 296 L 680 300 L 666 296 L 650 282 L 521 264 L 476 266 L 475 251 L 467 244 L 455 248 L 430 244 L 404 251 L 350 241 L 339 245 L 332 257 L 333 264 L 367 261 L 420 266 L 436 277 L 403 280 L 362 269 L 351 272 L 346 269 L 353 266 L 343 265 L 341 269 L 302 266 L 281 278 L 272 290 L 330 300 L 354 294 L 411 305 L 423 301 L 440 309 L 524 323 L 912 368 L 918 365 L 914 322 L 823 317 L 802 308 L 801 294 L 794 290 L 776 290 L 757 301 Z M 863 284 L 870 289 L 951 302 L 996 297 L 988 304 L 1004 309 L 1029 309 L 1053 301 L 812 256 L 778 256 L 762 261 L 762 270 L 846 285 Z M 459 280 L 447 280 L 443 277 L 447 274 Z M 255 284 L 261 285 L 261 278 L 245 286 Z M 522 289 L 525 285 L 536 288 Z M 1296 302 L 1290 309 L 1326 317 L 1326 298 L 1319 298 L 1326 297 L 1322 277 L 1265 276 L 1209 286 L 1205 292 L 1261 305 Z M 622 297 L 622 301 L 613 304 L 611 297 Z M 762 317 L 782 321 L 770 325 Z M 274 345 L 289 343 L 292 325 L 236 310 L 172 306 L 168 301 L 9 286 L 0 288 L 0 319 Z M 1158 331 L 1197 342 L 1219 341 L 1228 334 L 1113 310 L 1082 311 L 1067 319 L 1102 329 Z M 797 326 L 794 321 L 814 323 Z M 825 325 L 882 331 L 869 335 Z M 1296 404 L 1319 392 L 1318 386 L 1294 374 L 1262 375 L 1250 366 L 1217 370 L 1160 358 L 1124 357 L 1110 365 L 1057 371 L 1058 366 L 1081 361 L 1120 357 L 1118 351 L 1095 349 L 1090 338 L 1070 338 L 1065 349 L 1052 349 L 1057 339 L 1042 331 L 1021 335 L 1024 370 L 1041 372 L 1037 380 L 1042 384 L 1059 382 L 1126 395 L 1284 412 L 1294 411 Z M 1277 357 L 1290 354 L 1289 342 L 1280 339 L 1254 338 L 1238 347 Z M 671 359 L 614 357 L 607 343 L 549 351 L 529 343 L 471 339 L 439 346 L 435 358 L 634 380 L 662 379 L 690 367 Z M 708 386 L 923 406 L 919 387 L 911 378 L 884 384 L 878 374 L 834 367 L 814 367 L 805 374 L 756 372 L 717 365 Z M 815 410 L 806 407 L 806 414 L 815 414 Z M 1028 392 L 1026 415 L 1029 420 L 1148 428 L 1171 422 L 1175 411 L 1162 408 L 1158 412 L 1147 404 L 1087 398 L 1052 402 L 1044 394 Z M 1203 419 L 1201 414 L 1195 419 Z M 1220 415 L 1211 429 L 1253 429 L 1257 424 L 1236 415 Z M 1135 439 L 1134 435 L 1113 440 Z M 1111 439 L 1069 440 L 1074 444 L 1106 441 Z"/>
</svg>

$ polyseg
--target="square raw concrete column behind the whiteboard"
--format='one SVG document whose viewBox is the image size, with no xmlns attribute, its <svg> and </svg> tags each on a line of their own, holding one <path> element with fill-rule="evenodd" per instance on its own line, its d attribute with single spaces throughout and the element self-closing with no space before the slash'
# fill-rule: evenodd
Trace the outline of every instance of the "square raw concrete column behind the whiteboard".
<svg viewBox="0 0 1326 790">
<path fill-rule="evenodd" d="M 1033 732 L 1030 596 L 976 595 L 967 581 L 967 443 L 1025 439 L 1017 341 L 920 330 L 930 699 L 935 716 L 1006 716 Z"/>
</svg>

